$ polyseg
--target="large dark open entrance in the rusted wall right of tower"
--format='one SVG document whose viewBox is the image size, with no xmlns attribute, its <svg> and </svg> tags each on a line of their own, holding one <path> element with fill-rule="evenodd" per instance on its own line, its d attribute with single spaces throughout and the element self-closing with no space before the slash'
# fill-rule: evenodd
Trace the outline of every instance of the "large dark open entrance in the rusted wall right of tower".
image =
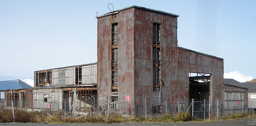
<svg viewBox="0 0 256 126">
<path fill-rule="evenodd" d="M 189 72 L 189 99 L 191 102 L 194 98 L 194 115 L 199 118 L 204 118 L 204 111 L 206 118 L 209 117 L 210 76 L 209 73 Z"/>
</svg>

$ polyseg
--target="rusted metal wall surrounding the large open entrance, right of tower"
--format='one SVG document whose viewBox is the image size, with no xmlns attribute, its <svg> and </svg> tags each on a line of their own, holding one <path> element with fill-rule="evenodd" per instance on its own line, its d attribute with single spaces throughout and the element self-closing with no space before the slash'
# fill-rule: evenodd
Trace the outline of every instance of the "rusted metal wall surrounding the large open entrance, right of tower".
<svg viewBox="0 0 256 126">
<path fill-rule="evenodd" d="M 223 103 L 223 59 L 179 47 L 177 52 L 177 62 L 178 76 L 180 76 L 178 85 L 181 87 L 178 89 L 178 92 L 184 90 L 187 92 L 185 96 L 183 95 L 183 100 L 188 100 L 189 98 L 188 73 L 198 72 L 211 74 L 209 101 L 214 102 L 219 99 L 219 101 Z"/>
</svg>

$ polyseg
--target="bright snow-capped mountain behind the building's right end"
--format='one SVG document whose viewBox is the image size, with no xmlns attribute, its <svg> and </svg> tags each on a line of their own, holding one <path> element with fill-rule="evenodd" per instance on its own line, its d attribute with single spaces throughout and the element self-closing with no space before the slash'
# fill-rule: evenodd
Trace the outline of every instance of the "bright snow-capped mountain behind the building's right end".
<svg viewBox="0 0 256 126">
<path fill-rule="evenodd" d="M 236 80 L 240 83 L 244 83 L 244 82 L 247 82 L 247 81 L 251 81 L 254 78 L 252 78 L 251 76 L 246 77 L 241 72 L 234 71 L 234 72 L 224 73 L 224 79 L 233 79 L 233 80 Z"/>
</svg>

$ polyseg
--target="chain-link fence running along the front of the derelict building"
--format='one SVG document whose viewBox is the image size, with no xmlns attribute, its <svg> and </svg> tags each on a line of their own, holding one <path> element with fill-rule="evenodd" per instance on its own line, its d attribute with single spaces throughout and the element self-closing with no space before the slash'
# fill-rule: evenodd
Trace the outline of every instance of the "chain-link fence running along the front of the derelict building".
<svg viewBox="0 0 256 126">
<path fill-rule="evenodd" d="M 110 98 L 110 97 L 109 97 Z M 104 104 L 98 107 L 98 101 L 105 100 Z M 5 102 L 5 107 L 19 108 L 25 111 L 40 111 L 42 114 L 55 114 L 57 112 L 65 113 L 65 115 L 96 115 L 108 114 L 108 113 L 119 113 L 118 103 L 112 101 L 113 99 L 108 98 L 96 98 L 91 97 L 81 97 L 77 99 L 66 98 L 60 100 L 34 100 L 29 99 L 27 101 L 21 100 L 7 100 Z M 111 102 L 109 102 L 111 101 Z M 179 114 L 181 112 L 189 112 L 191 116 L 198 118 L 212 118 L 225 116 L 233 113 L 240 113 L 247 111 L 247 106 L 245 106 L 243 100 L 237 101 L 226 101 L 227 103 L 219 102 L 217 99 L 215 102 L 209 102 L 207 99 L 190 99 L 188 104 L 181 102 L 179 99 L 168 103 L 163 101 L 161 105 L 148 106 L 148 101 L 143 100 L 142 105 L 135 106 L 135 113 L 138 115 L 146 115 L 152 113 L 168 113 L 168 114 Z M 147 105 L 147 106 L 146 106 Z M 225 105 L 225 106 L 224 106 Z M 253 110 L 253 103 L 249 103 L 249 111 Z M 255 106 L 256 108 L 256 106 Z M 127 111 L 127 110 L 126 110 Z"/>
</svg>

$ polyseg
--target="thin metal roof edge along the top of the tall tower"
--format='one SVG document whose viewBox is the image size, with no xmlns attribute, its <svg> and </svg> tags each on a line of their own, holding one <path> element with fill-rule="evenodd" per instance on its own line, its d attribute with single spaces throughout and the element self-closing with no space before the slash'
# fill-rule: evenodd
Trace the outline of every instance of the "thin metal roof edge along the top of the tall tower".
<svg viewBox="0 0 256 126">
<path fill-rule="evenodd" d="M 130 8 L 140 8 L 140 9 L 144 9 L 144 10 L 149 10 L 149 11 L 154 11 L 154 12 L 158 12 L 158 13 L 164 13 L 164 14 L 167 14 L 167 15 L 179 17 L 179 15 L 177 15 L 177 14 L 167 13 L 167 12 L 164 12 L 164 11 L 154 10 L 154 9 L 140 7 L 140 6 L 136 6 L 136 5 L 116 10 L 116 11 L 114 11 L 114 14 L 119 13 L 119 11 L 123 11 L 123 10 L 130 9 Z M 113 14 L 113 12 L 108 12 L 106 14 L 97 16 L 96 18 L 104 17 L 104 16 L 108 16 L 108 15 L 112 15 L 112 14 Z"/>
</svg>

